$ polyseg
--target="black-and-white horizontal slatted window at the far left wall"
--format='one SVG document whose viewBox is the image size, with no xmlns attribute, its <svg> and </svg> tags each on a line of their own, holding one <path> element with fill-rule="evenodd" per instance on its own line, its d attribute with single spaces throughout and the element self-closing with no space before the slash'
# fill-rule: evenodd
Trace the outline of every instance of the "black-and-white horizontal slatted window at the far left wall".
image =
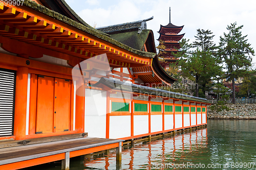
<svg viewBox="0 0 256 170">
<path fill-rule="evenodd" d="M 0 136 L 13 135 L 16 72 L 0 68 Z"/>
</svg>

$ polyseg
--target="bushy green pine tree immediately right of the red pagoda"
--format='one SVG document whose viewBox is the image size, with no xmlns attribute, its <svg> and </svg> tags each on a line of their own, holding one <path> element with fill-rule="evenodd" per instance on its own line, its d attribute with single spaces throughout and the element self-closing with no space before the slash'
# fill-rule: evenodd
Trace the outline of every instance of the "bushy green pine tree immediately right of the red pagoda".
<svg viewBox="0 0 256 170">
<path fill-rule="evenodd" d="M 222 67 L 219 65 L 220 60 L 216 56 L 216 45 L 212 41 L 212 32 L 209 30 L 197 30 L 195 36 L 196 41 L 193 44 L 188 44 L 188 41 L 183 42 L 182 48 L 185 49 L 183 53 L 177 53 L 177 56 L 181 55 L 179 60 L 179 66 L 183 77 L 187 77 L 190 80 L 196 82 L 195 95 L 205 97 L 205 91 L 207 84 L 217 75 L 221 75 Z M 189 48 L 196 47 L 194 51 L 189 51 Z"/>
</svg>

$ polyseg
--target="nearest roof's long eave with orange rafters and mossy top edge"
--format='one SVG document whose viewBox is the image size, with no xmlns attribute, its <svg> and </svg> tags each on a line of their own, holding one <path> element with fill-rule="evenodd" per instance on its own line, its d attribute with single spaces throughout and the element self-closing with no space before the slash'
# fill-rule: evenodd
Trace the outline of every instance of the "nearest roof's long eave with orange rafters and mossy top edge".
<svg viewBox="0 0 256 170">
<path fill-rule="evenodd" d="M 40 58 L 46 53 L 53 55 L 55 51 L 64 54 L 69 65 L 74 66 L 80 60 L 106 53 L 112 67 L 148 66 L 156 56 L 127 46 L 33 1 L 25 1 L 23 6 L 0 6 L 0 15 L 0 40 L 19 46 L 18 50 L 3 48 L 18 55 Z M 23 47 L 25 44 L 33 50 Z"/>
</svg>

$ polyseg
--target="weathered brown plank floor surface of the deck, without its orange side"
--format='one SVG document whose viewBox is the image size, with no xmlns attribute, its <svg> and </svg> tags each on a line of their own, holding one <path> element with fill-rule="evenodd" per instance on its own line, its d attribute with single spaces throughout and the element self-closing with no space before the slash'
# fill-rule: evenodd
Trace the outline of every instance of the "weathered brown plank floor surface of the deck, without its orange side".
<svg viewBox="0 0 256 170">
<path fill-rule="evenodd" d="M 84 137 L 48 143 L 0 149 L 0 165 L 35 159 L 65 152 L 78 151 L 124 140 Z"/>
</svg>

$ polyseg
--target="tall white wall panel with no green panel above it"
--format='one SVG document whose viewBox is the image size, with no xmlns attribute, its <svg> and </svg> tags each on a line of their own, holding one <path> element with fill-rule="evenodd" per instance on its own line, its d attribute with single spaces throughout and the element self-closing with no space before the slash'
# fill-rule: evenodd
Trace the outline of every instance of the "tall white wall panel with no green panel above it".
<svg viewBox="0 0 256 170">
<path fill-rule="evenodd" d="M 91 137 L 106 137 L 106 92 L 86 89 L 84 132 Z"/>
</svg>

